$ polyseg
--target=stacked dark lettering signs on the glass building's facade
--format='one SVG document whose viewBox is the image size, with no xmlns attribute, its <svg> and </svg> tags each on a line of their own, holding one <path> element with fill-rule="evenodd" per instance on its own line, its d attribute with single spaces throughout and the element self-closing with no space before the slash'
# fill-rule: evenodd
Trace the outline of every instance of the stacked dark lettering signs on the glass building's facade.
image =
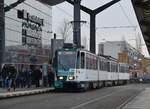
<svg viewBox="0 0 150 109">
<path fill-rule="evenodd" d="M 18 10 L 18 18 L 22 19 L 22 44 L 28 46 L 42 46 L 42 26 L 44 20 L 31 15 L 25 10 Z"/>
</svg>

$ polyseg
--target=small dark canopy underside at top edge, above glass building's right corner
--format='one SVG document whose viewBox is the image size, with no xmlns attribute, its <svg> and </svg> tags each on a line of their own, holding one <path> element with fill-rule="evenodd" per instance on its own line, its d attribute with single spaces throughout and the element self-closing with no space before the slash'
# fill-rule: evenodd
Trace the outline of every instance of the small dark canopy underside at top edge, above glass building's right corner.
<svg viewBox="0 0 150 109">
<path fill-rule="evenodd" d="M 57 5 L 59 3 L 64 2 L 65 0 L 37 0 L 37 1 L 44 3 L 44 4 L 47 4 L 47 5 L 50 5 L 50 6 L 54 6 L 54 5 Z"/>
</svg>

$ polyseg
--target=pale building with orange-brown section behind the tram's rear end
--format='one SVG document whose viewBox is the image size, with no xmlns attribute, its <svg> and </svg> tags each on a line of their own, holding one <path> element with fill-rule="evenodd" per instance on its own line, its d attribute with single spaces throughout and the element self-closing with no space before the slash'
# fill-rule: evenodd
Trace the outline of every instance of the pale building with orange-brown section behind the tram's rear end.
<svg viewBox="0 0 150 109">
<path fill-rule="evenodd" d="M 131 78 L 141 77 L 144 74 L 142 61 L 144 56 L 126 41 L 107 41 L 99 44 L 98 54 L 109 55 L 120 63 L 128 63 Z"/>
</svg>

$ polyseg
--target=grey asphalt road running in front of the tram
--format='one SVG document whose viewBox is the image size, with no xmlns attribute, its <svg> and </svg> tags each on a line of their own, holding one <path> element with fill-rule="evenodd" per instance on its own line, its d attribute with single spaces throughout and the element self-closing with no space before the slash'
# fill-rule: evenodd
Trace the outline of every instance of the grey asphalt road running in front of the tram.
<svg viewBox="0 0 150 109">
<path fill-rule="evenodd" d="M 0 100 L 0 109 L 121 109 L 150 85 L 130 84 L 87 92 L 50 92 Z"/>
</svg>

